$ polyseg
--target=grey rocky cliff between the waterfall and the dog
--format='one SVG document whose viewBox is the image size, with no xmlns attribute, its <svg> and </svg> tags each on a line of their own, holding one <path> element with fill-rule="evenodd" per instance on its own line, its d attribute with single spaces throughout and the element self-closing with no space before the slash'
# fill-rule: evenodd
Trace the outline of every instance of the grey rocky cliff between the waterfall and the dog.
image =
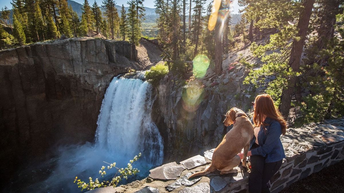
<svg viewBox="0 0 344 193">
<path fill-rule="evenodd" d="M 210 67 L 202 79 L 178 83 L 169 76 L 160 81 L 153 115 L 164 138 L 165 162 L 181 161 L 215 148 L 232 128 L 223 125 L 224 114 L 232 107 L 245 112 L 251 109 L 256 91 L 243 85 L 249 70 L 238 60 L 259 60 L 248 48 L 226 58 L 221 76 L 215 76 Z"/>
</svg>

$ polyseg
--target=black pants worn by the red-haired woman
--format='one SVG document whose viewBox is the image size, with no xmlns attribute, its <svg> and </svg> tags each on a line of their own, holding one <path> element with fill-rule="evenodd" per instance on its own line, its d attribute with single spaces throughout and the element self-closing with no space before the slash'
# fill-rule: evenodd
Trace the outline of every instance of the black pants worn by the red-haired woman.
<svg viewBox="0 0 344 193">
<path fill-rule="evenodd" d="M 256 145 L 256 143 L 255 143 Z M 258 147 L 258 145 L 256 145 Z M 249 193 L 269 193 L 270 187 L 268 182 L 273 174 L 275 174 L 282 165 L 282 160 L 265 163 L 263 156 L 250 156 L 251 173 L 248 179 Z"/>
</svg>

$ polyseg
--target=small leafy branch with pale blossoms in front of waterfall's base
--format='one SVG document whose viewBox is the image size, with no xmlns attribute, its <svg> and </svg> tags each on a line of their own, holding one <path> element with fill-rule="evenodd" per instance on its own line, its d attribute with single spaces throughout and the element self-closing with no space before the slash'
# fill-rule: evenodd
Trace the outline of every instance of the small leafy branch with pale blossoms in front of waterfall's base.
<svg viewBox="0 0 344 193">
<path fill-rule="evenodd" d="M 116 172 L 116 175 L 114 178 L 112 178 L 111 181 L 103 181 L 99 182 L 98 178 L 96 178 L 95 181 L 93 181 L 92 177 L 89 177 L 88 180 L 89 182 L 86 184 L 86 182 L 78 179 L 78 177 L 75 177 L 74 183 L 76 182 L 78 187 L 81 188 L 81 191 L 83 190 L 93 190 L 95 188 L 100 188 L 100 187 L 108 187 L 108 186 L 113 186 L 114 188 L 118 185 L 118 183 L 121 181 L 121 179 L 128 179 L 129 175 L 136 175 L 137 173 L 140 172 L 137 168 L 133 168 L 132 164 L 137 161 L 141 157 L 141 153 L 139 155 L 135 156 L 133 160 L 130 160 L 128 163 L 128 166 L 126 168 L 117 168 L 116 167 L 116 162 L 115 163 L 108 163 L 109 166 L 105 167 L 102 166 L 99 170 L 99 174 L 101 177 L 104 177 L 106 174 L 106 171 L 116 168 L 118 171 Z M 106 162 L 105 162 L 106 163 Z M 105 170 L 106 169 L 106 170 Z M 117 176 L 117 174 L 119 174 Z M 100 176 L 99 176 L 100 178 Z"/>
</svg>

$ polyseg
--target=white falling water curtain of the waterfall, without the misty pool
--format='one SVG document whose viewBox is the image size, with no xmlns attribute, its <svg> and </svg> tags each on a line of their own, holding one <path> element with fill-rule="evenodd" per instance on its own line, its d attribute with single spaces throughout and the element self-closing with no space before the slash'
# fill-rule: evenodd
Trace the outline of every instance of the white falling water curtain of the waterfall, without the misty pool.
<svg viewBox="0 0 344 193">
<path fill-rule="evenodd" d="M 151 86 L 140 79 L 114 78 L 101 104 L 97 121 L 96 146 L 123 161 L 139 152 L 142 159 L 159 165 L 163 159 L 163 143 L 151 119 Z"/>
</svg>

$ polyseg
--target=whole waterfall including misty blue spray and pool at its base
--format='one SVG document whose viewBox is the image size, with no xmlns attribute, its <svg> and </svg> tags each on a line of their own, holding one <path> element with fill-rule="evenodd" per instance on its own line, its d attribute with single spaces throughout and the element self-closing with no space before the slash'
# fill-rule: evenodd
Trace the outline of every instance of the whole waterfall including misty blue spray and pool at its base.
<svg viewBox="0 0 344 193">
<path fill-rule="evenodd" d="M 80 189 L 73 183 L 76 176 L 86 183 L 88 177 L 108 180 L 98 173 L 102 166 L 107 167 L 104 162 L 116 162 L 117 167 L 125 168 L 140 152 L 141 158 L 133 164 L 140 172 L 131 180 L 147 177 L 149 170 L 163 160 L 162 137 L 151 119 L 151 90 L 146 81 L 115 77 L 101 104 L 95 143 L 59 147 L 58 158 L 49 163 L 54 165 L 50 177 L 31 188 L 78 192 Z M 115 173 L 116 170 L 109 170 L 106 176 L 113 177 Z"/>
</svg>

